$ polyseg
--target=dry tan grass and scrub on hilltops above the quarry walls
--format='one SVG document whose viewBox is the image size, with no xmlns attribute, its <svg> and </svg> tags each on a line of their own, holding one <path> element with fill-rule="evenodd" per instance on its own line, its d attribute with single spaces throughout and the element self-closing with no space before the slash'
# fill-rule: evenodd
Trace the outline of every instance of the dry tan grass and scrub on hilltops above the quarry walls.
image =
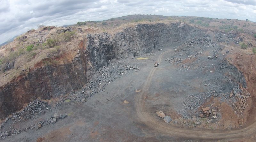
<svg viewBox="0 0 256 142">
<path fill-rule="evenodd" d="M 197 26 L 203 29 L 211 29 L 211 30 L 220 30 L 220 26 L 231 25 L 237 26 L 238 29 L 242 29 L 243 34 L 240 36 L 244 36 L 245 43 L 252 43 L 254 46 L 256 45 L 256 41 L 252 37 L 252 33 L 256 33 L 256 24 L 249 21 L 241 21 L 236 19 L 209 19 L 209 18 L 198 18 L 198 17 L 165 17 L 158 18 L 157 16 L 152 15 L 152 18 L 148 18 L 146 16 L 145 19 L 140 18 L 140 16 L 135 15 L 135 19 L 129 17 L 123 18 L 114 18 L 115 20 L 107 20 L 105 21 L 107 25 L 102 25 L 102 22 L 90 21 L 86 22 L 86 25 L 83 26 L 71 26 L 72 31 L 76 31 L 76 37 L 70 41 L 63 41 L 61 39 L 60 43 L 57 46 L 52 48 L 45 46 L 46 39 L 60 37 L 60 32 L 64 29 L 64 27 L 57 27 L 49 30 L 49 28 L 38 29 L 28 31 L 27 33 L 20 35 L 13 42 L 4 45 L 0 49 L 0 65 L 3 68 L 5 63 L 14 63 L 13 69 L 9 71 L 0 72 L 0 86 L 6 84 L 11 81 L 13 78 L 19 76 L 22 73 L 22 69 L 33 69 L 35 65 L 41 62 L 44 59 L 51 58 L 55 60 L 54 62 L 58 64 L 66 64 L 70 63 L 73 60 L 73 57 L 76 55 L 78 50 L 78 45 L 81 40 L 83 40 L 87 34 L 96 34 L 102 32 L 108 32 L 110 35 L 114 35 L 117 32 L 123 32 L 123 29 L 129 27 L 135 27 L 138 24 L 171 24 L 176 22 L 185 22 L 192 26 Z M 136 20 L 137 18 L 137 20 Z M 139 18 L 139 19 L 138 19 Z M 195 19 L 195 23 L 190 23 L 192 19 Z M 149 21 L 150 20 L 150 21 Z M 209 26 L 202 26 L 196 24 L 198 20 L 202 20 L 202 23 L 208 23 Z M 246 25 L 246 26 L 244 26 Z M 78 30 L 78 28 L 82 29 Z M 22 39 L 22 37 L 26 35 L 26 39 Z M 40 43 L 39 43 L 40 41 Z M 30 44 L 34 44 L 33 50 L 28 52 L 26 51 L 26 47 Z M 252 49 L 250 49 L 252 52 Z"/>
</svg>

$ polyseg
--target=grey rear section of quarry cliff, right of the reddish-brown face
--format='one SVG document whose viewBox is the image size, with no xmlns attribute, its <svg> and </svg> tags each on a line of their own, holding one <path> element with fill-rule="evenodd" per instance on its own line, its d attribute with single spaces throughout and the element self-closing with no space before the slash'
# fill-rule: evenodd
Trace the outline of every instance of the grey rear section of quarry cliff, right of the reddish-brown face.
<svg viewBox="0 0 256 142">
<path fill-rule="evenodd" d="M 138 24 L 122 32 L 88 34 L 86 56 L 97 69 L 113 58 L 135 57 L 151 52 L 152 49 L 182 43 L 188 38 L 199 38 L 206 31 L 183 23 Z"/>
</svg>

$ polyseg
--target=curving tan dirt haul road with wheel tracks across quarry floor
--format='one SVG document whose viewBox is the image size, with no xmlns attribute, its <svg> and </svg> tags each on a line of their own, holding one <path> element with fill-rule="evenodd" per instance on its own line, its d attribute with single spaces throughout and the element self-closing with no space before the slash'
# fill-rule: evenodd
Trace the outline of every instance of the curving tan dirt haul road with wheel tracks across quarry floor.
<svg viewBox="0 0 256 142">
<path fill-rule="evenodd" d="M 165 51 L 158 57 L 159 64 L 162 61 L 162 56 L 172 50 Z M 243 129 L 237 130 L 195 130 L 188 128 L 177 128 L 172 125 L 166 125 L 166 123 L 158 122 L 155 116 L 151 116 L 147 113 L 145 108 L 145 101 L 147 96 L 147 90 L 149 89 L 152 77 L 157 68 L 153 67 L 150 71 L 148 78 L 141 89 L 141 92 L 135 98 L 135 108 L 138 118 L 145 123 L 148 127 L 161 132 L 167 136 L 178 136 L 182 138 L 196 138 L 196 139 L 226 139 L 226 138 L 239 138 L 248 136 L 256 131 L 256 122 Z"/>
</svg>

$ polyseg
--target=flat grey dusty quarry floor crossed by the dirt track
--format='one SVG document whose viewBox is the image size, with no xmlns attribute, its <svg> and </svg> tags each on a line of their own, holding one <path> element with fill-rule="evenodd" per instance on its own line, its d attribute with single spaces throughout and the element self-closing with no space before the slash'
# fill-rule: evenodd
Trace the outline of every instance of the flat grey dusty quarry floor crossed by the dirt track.
<svg viewBox="0 0 256 142">
<path fill-rule="evenodd" d="M 226 55 L 220 54 L 217 60 L 207 59 L 214 48 L 207 48 L 191 59 L 177 53 L 176 57 L 186 60 L 172 65 L 164 59 L 173 56 L 173 46 L 178 45 L 170 45 L 157 51 L 155 56 L 149 56 L 146 60 L 125 59 L 122 62 L 143 63 L 141 71 L 123 75 L 106 86 L 105 92 L 94 94 L 85 103 L 63 102 L 59 109 L 42 114 L 35 120 L 21 121 L 13 126 L 12 122 L 8 122 L 8 125 L 4 126 L 5 129 L 10 126 L 22 129 L 55 113 L 68 114 L 68 117 L 58 120 L 55 124 L 38 130 L 28 130 L 2 141 L 254 141 L 253 124 L 250 125 L 248 133 L 243 131 L 254 120 L 249 120 L 241 129 L 238 124 L 241 116 L 233 110 L 229 98 L 223 100 L 221 96 L 202 97 L 197 111 L 200 112 L 201 106 L 216 106 L 220 107 L 218 110 L 221 117 L 217 123 L 207 123 L 206 118 L 202 118 L 199 120 L 200 125 L 194 126 L 191 118 L 195 114 L 193 110 L 184 108 L 183 104 L 187 97 L 219 90 L 223 86 L 223 93 L 230 93 L 232 87 L 238 86 L 238 83 L 230 81 L 229 77 L 218 70 L 218 63 Z M 248 55 L 249 57 L 251 56 Z M 153 64 L 157 60 L 159 66 L 154 68 Z M 255 57 L 251 60 L 254 61 Z M 186 67 L 180 68 L 181 64 Z M 241 68 L 243 64 L 240 64 Z M 246 79 L 249 78 L 249 81 L 255 83 L 252 79 L 255 77 L 255 69 L 253 71 L 250 73 L 253 76 L 246 74 Z M 204 86 L 205 83 L 212 85 Z M 248 87 L 253 88 L 251 85 Z M 245 111 L 248 112 L 247 109 Z M 158 110 L 171 116 L 172 122 L 165 123 L 162 118 L 156 116 Z M 250 114 L 253 113 L 255 112 L 252 110 Z M 188 118 L 183 118 L 184 114 L 187 114 Z M 245 112 L 245 116 L 247 115 Z M 175 121 L 177 123 L 174 123 Z M 233 128 L 237 129 L 231 130 Z M 247 135 L 247 138 L 243 135 Z"/>
</svg>

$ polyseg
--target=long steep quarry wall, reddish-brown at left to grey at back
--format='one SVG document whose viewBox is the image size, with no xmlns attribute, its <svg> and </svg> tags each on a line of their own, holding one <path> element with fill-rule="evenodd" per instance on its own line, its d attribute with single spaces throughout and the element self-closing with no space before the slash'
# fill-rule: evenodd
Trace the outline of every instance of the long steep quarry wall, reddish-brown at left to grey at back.
<svg viewBox="0 0 256 142">
<path fill-rule="evenodd" d="M 20 110 L 25 103 L 41 97 L 50 99 L 86 84 L 87 78 L 113 58 L 151 52 L 174 42 L 204 36 L 206 31 L 187 24 L 139 24 L 113 36 L 88 34 L 77 45 L 72 63 L 36 68 L 0 87 L 0 119 Z"/>
</svg>

